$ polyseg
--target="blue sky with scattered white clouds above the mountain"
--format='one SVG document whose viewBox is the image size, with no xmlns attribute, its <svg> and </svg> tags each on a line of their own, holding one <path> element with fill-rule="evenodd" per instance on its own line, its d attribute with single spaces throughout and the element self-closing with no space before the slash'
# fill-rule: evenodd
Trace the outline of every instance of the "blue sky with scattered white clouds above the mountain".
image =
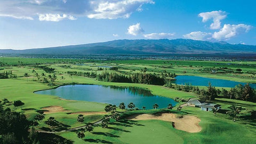
<svg viewBox="0 0 256 144">
<path fill-rule="evenodd" d="M 115 39 L 256 45 L 256 1 L 0 0 L 0 49 Z"/>
</svg>

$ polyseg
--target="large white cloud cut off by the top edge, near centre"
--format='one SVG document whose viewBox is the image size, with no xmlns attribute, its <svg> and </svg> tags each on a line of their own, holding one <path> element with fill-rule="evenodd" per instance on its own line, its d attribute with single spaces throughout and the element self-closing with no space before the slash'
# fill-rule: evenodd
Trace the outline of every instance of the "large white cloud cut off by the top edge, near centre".
<svg viewBox="0 0 256 144">
<path fill-rule="evenodd" d="M 142 10 L 143 4 L 153 4 L 152 0 L 123 0 L 123 1 L 91 1 L 93 12 L 88 18 L 94 19 L 117 19 L 129 18 L 138 10 Z"/>
</svg>

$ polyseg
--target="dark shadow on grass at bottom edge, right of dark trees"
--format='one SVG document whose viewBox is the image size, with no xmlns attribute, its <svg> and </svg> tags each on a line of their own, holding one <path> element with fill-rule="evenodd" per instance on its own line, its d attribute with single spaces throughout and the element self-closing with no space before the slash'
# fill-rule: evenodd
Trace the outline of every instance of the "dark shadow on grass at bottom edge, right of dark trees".
<svg viewBox="0 0 256 144">
<path fill-rule="evenodd" d="M 38 140 L 40 143 L 51 143 L 51 144 L 71 144 L 73 141 L 67 140 L 60 135 L 54 133 L 38 133 Z"/>
</svg>

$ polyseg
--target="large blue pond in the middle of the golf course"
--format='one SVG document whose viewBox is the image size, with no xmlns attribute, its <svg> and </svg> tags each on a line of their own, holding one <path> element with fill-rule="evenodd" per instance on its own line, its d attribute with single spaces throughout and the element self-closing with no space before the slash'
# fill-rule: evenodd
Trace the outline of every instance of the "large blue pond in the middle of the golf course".
<svg viewBox="0 0 256 144">
<path fill-rule="evenodd" d="M 166 108 L 167 105 L 175 102 L 171 98 L 152 95 L 149 90 L 129 87 L 114 87 L 114 86 L 101 86 L 101 85 L 68 85 L 61 86 L 56 89 L 36 91 L 36 94 L 59 96 L 71 100 L 84 100 L 94 101 L 99 103 L 108 103 L 119 106 L 120 103 L 127 104 L 134 103 L 135 107 L 146 109 L 153 109 L 154 104 L 158 104 L 159 108 Z"/>
</svg>

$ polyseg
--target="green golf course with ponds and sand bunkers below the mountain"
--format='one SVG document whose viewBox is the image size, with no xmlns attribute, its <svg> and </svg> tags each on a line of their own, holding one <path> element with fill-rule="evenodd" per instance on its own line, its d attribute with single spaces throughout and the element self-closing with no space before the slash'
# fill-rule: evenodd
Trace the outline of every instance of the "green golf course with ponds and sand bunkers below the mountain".
<svg viewBox="0 0 256 144">
<path fill-rule="evenodd" d="M 39 143 L 256 141 L 255 61 L 0 58 L 0 73 L 7 75 L 0 79 L 1 105 L 37 123 L 28 132 L 35 129 Z M 141 75 L 149 81 L 140 81 Z M 179 82 L 180 76 L 207 83 Z M 211 85 L 211 79 L 217 83 Z M 222 80 L 226 83 L 218 86 Z M 238 89 L 230 83 L 250 85 L 254 97 L 229 96 Z M 202 91 L 210 88 L 218 94 L 209 99 Z M 202 111 L 186 105 L 190 98 L 221 106 Z M 232 106 L 241 107 L 235 116 L 228 115 Z"/>
</svg>

